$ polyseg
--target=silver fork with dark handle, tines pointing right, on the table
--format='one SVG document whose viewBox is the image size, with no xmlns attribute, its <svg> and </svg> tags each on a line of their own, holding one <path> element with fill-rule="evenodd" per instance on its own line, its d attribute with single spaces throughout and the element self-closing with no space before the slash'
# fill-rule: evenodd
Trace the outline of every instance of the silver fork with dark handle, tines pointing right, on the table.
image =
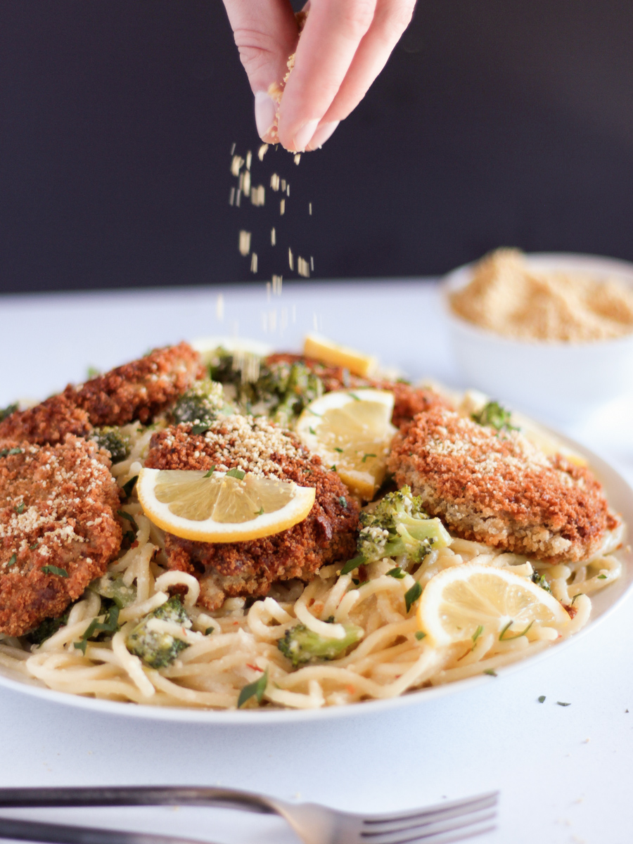
<svg viewBox="0 0 633 844">
<path fill-rule="evenodd" d="M 106 786 L 68 788 L 0 788 L 0 808 L 24 809 L 35 806 L 214 806 L 243 809 L 258 814 L 279 814 L 295 830 L 304 844 L 452 844 L 495 829 L 499 792 L 441 803 L 426 809 L 410 809 L 393 814 L 352 814 L 328 809 L 317 803 L 287 803 L 263 794 L 232 788 L 190 786 Z M 30 824 L 30 821 L 11 821 Z M 53 828 L 53 825 L 40 824 Z M 58 829 L 61 829 L 59 827 Z M 78 827 L 64 827 L 78 830 Z M 97 834 L 103 830 L 85 830 Z M 43 830 L 40 831 L 40 834 Z M 187 844 L 183 839 L 117 832 L 111 844 Z M 0 836 L 5 836 L 0 828 Z M 5 836 L 6 837 L 6 836 Z M 87 838 L 22 837 L 25 841 L 68 841 L 68 844 L 101 844 L 95 835 Z"/>
</svg>

